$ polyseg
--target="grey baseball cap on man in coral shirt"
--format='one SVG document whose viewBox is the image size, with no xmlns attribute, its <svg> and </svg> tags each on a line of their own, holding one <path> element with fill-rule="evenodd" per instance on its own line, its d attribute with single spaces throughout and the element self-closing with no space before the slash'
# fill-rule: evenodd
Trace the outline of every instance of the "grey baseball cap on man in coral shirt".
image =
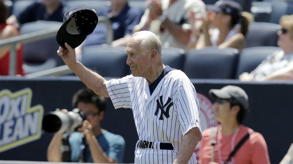
<svg viewBox="0 0 293 164">
<path fill-rule="evenodd" d="M 238 86 L 225 86 L 221 89 L 209 90 L 209 95 L 214 98 L 235 99 L 248 111 L 248 96 L 246 92 Z"/>
</svg>

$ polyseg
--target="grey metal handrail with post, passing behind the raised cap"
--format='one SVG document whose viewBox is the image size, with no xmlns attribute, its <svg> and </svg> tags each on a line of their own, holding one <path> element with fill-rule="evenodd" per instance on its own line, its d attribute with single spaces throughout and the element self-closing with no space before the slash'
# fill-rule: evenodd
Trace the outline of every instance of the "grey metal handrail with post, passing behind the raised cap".
<svg viewBox="0 0 293 164">
<path fill-rule="evenodd" d="M 108 34 L 107 34 L 107 44 L 111 44 L 113 41 L 113 29 L 112 24 L 106 17 L 99 17 L 98 24 L 104 23 L 107 26 Z M 2 46 L 10 46 L 10 56 L 9 56 L 9 75 L 16 75 L 16 44 L 19 42 L 29 43 L 33 41 L 38 41 L 42 39 L 47 39 L 51 37 L 56 37 L 59 28 L 51 28 L 46 30 L 41 30 L 37 32 L 32 32 L 29 34 L 22 34 L 19 36 L 14 36 L 11 38 L 0 40 L 0 47 Z"/>
</svg>

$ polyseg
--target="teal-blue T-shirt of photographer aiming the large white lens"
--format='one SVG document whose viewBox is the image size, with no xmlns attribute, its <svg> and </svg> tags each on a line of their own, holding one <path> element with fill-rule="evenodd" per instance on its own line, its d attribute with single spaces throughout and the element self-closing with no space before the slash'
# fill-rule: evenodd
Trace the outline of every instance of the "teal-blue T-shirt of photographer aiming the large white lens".
<svg viewBox="0 0 293 164">
<path fill-rule="evenodd" d="M 96 136 L 96 139 L 108 157 L 113 158 L 118 163 L 122 163 L 125 148 L 125 141 L 122 136 L 104 130 L 102 134 Z M 80 132 L 73 132 L 70 135 L 69 144 L 71 148 L 71 162 L 79 162 L 79 155 L 83 153 L 85 148 L 85 162 L 93 163 L 89 146 L 87 144 L 83 145 Z"/>
</svg>

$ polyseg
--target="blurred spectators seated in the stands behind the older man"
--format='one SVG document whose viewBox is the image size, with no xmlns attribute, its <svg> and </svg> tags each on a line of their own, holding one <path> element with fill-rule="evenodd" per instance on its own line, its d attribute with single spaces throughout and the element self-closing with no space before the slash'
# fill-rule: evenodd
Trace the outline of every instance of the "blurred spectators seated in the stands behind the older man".
<svg viewBox="0 0 293 164">
<path fill-rule="evenodd" d="M 2 0 L 4 4 L 5 1 L 8 0 Z M 7 11 L 6 15 L 1 14 L 3 17 L 1 19 L 6 19 L 6 21 L 1 21 L 1 39 L 19 35 L 18 30 L 21 29 L 21 25 L 28 22 L 38 20 L 63 22 L 64 13 L 72 7 L 68 3 L 69 1 L 72 0 L 31 0 L 30 4 L 22 7 L 21 11 L 17 13 Z M 13 2 L 16 4 L 17 1 Z M 147 0 L 141 1 L 141 4 L 145 5 L 143 13 L 142 8 L 132 5 L 132 1 L 110 0 L 110 5 L 99 8 L 97 15 L 108 18 L 111 22 L 113 30 L 111 46 L 113 47 L 125 47 L 134 32 L 149 30 L 159 37 L 164 48 L 180 48 L 188 52 L 192 49 L 205 49 L 205 47 L 212 46 L 219 49 L 235 48 L 241 53 L 241 50 L 248 48 L 247 35 L 249 26 L 254 22 L 254 19 L 251 13 L 246 12 L 249 10 L 247 8 L 243 10 L 241 7 L 243 4 L 240 5 L 238 2 L 232 0 L 213 2 L 205 0 Z M 211 5 L 211 3 L 214 4 Z M 10 9 L 13 10 L 13 6 Z M 8 13 L 11 14 L 8 15 Z M 268 54 L 259 67 L 251 73 L 241 74 L 239 80 L 292 79 L 293 69 L 291 69 L 290 62 L 293 51 L 291 50 L 293 43 L 292 17 L 292 15 L 286 15 L 280 19 L 282 28 L 277 30 L 279 39 L 276 41 L 276 45 L 282 50 Z M 87 36 L 84 43 L 76 48 L 77 56 L 82 55 L 84 47 L 107 44 L 107 32 L 105 24 L 98 24 L 93 33 Z M 2 49 L 6 51 L 1 51 L 3 54 L 5 52 L 5 55 L 0 54 L 0 61 L 6 64 L 1 64 L 0 72 L 1 75 L 8 75 L 9 47 L 1 47 Z M 26 62 L 21 57 L 23 44 L 18 44 L 17 50 L 17 74 L 24 75 L 25 70 L 22 71 L 20 67 L 22 62 Z M 267 75 L 269 76 L 267 77 Z"/>
</svg>

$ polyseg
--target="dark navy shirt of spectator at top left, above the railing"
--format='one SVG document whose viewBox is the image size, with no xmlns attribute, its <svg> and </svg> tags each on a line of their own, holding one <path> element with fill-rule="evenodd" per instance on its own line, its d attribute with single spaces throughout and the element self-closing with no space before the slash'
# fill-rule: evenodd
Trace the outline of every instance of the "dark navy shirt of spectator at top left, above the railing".
<svg viewBox="0 0 293 164">
<path fill-rule="evenodd" d="M 21 24 L 38 20 L 63 22 L 64 13 L 67 10 L 69 10 L 69 7 L 61 2 L 57 10 L 54 11 L 54 13 L 49 14 L 42 1 L 35 1 L 25 8 L 19 15 L 16 15 L 16 18 Z"/>
</svg>

